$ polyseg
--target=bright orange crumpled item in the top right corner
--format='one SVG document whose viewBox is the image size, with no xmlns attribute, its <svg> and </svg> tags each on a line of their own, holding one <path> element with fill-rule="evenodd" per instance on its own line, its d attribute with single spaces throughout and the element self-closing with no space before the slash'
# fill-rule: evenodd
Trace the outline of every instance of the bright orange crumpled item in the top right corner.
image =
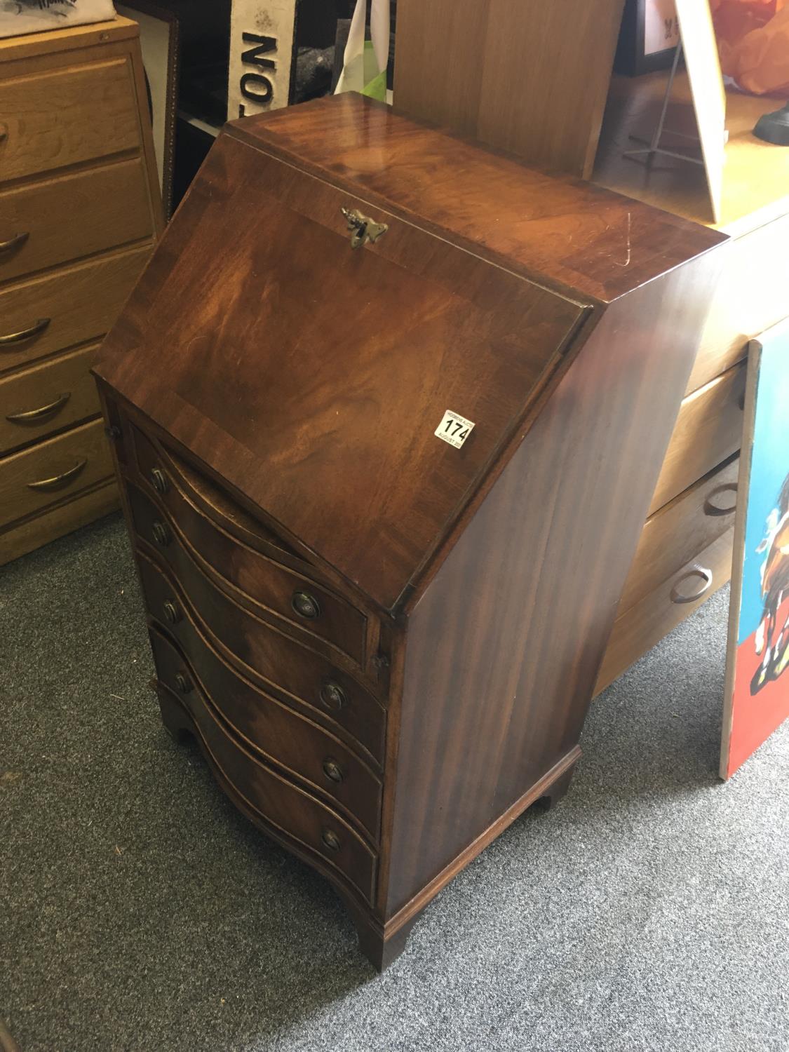
<svg viewBox="0 0 789 1052">
<path fill-rule="evenodd" d="M 789 92 L 789 0 L 710 0 L 723 72 L 753 95 Z"/>
</svg>

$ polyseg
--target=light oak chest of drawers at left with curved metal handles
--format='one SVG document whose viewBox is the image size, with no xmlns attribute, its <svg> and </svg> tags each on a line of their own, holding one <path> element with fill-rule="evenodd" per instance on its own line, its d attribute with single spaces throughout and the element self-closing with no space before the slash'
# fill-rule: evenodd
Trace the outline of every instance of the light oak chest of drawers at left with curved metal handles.
<svg viewBox="0 0 789 1052">
<path fill-rule="evenodd" d="M 89 375 L 161 230 L 137 25 L 0 41 L 0 564 L 118 503 Z"/>
</svg>

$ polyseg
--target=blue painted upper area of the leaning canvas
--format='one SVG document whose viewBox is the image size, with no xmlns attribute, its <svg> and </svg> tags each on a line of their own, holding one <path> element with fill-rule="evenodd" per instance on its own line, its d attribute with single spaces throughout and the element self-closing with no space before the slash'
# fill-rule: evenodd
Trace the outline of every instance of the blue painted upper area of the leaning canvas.
<svg viewBox="0 0 789 1052">
<path fill-rule="evenodd" d="M 761 568 L 767 552 L 758 553 L 756 548 L 767 534 L 767 519 L 777 507 L 781 488 L 789 474 L 789 325 L 770 329 L 762 342 L 739 643 L 747 640 L 762 620 Z"/>
</svg>

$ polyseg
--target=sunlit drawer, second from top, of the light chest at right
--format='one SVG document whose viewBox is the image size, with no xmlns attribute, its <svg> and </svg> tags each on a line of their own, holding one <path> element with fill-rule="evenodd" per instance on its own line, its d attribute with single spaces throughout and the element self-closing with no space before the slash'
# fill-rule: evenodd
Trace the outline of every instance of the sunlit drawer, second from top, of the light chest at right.
<svg viewBox="0 0 789 1052">
<path fill-rule="evenodd" d="M 733 366 L 682 403 L 650 515 L 740 449 L 746 366 Z"/>
</svg>

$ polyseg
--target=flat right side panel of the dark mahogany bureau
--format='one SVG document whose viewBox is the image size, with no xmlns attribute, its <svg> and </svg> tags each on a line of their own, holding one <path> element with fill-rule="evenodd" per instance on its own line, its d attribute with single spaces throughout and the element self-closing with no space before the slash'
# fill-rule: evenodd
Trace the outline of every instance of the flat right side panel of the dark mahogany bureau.
<svg viewBox="0 0 789 1052">
<path fill-rule="evenodd" d="M 716 255 L 609 307 L 409 619 L 389 918 L 578 744 Z"/>
</svg>

